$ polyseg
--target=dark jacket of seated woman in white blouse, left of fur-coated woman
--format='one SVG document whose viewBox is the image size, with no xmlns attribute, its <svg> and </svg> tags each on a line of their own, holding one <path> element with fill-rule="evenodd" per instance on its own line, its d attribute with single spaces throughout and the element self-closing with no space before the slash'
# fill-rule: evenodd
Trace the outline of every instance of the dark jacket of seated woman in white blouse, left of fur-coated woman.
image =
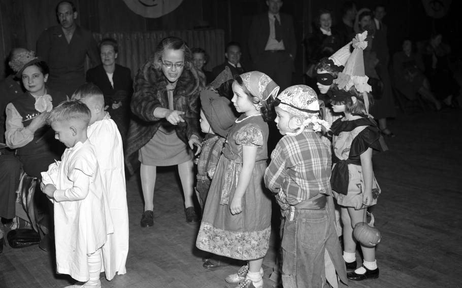
<svg viewBox="0 0 462 288">
<path fill-rule="evenodd" d="M 100 64 L 87 71 L 87 82 L 91 82 L 98 86 L 104 94 L 105 105 L 111 106 L 112 103 L 122 101 L 128 101 L 133 94 L 133 79 L 131 78 L 131 70 L 127 67 L 116 64 L 112 81 L 114 82 L 114 88 L 109 82 L 106 70 L 103 64 Z M 125 99 L 114 99 L 114 95 L 117 91 L 124 91 Z"/>
</svg>

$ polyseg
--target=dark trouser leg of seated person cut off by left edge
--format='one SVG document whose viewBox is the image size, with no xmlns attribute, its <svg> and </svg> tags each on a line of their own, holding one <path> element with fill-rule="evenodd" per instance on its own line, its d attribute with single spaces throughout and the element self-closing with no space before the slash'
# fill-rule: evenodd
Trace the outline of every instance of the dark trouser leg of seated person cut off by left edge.
<svg viewBox="0 0 462 288">
<path fill-rule="evenodd" d="M 0 155 L 0 217 L 15 217 L 16 189 L 18 189 L 22 164 L 14 155 Z"/>
</svg>

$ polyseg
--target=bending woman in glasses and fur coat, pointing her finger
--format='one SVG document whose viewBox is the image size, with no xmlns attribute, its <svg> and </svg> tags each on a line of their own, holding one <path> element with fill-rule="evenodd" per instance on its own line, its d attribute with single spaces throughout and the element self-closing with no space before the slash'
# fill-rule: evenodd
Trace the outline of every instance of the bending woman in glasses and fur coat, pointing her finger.
<svg viewBox="0 0 462 288">
<path fill-rule="evenodd" d="M 141 161 L 145 202 L 141 226 L 153 223 L 153 197 L 157 166 L 178 165 L 185 198 L 186 221 L 196 222 L 193 195 L 193 148 L 200 149 L 199 94 L 205 86 L 202 73 L 192 64 L 188 46 L 179 38 L 163 39 L 135 77 L 131 99 L 134 118 L 128 131 L 125 161 Z"/>
</svg>

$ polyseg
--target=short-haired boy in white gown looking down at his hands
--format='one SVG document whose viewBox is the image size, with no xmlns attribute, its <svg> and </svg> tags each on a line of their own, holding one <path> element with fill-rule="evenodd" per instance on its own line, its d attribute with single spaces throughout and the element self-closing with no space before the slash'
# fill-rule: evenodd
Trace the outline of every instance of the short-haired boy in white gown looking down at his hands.
<svg viewBox="0 0 462 288">
<path fill-rule="evenodd" d="M 54 205 L 56 270 L 79 283 L 101 287 L 101 247 L 113 224 L 96 151 L 87 138 L 91 113 L 81 101 L 64 101 L 47 122 L 67 149 L 42 172 L 42 191 Z M 83 282 L 83 283 L 82 283 Z"/>
</svg>

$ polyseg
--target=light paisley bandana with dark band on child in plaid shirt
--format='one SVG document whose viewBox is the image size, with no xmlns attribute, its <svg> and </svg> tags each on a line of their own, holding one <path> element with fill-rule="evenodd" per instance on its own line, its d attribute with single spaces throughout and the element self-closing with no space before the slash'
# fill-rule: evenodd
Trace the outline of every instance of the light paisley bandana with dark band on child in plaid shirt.
<svg viewBox="0 0 462 288">
<path fill-rule="evenodd" d="M 292 116 L 299 116 L 303 119 L 295 132 L 286 133 L 286 135 L 299 135 L 305 127 L 309 126 L 316 132 L 321 131 L 321 126 L 329 129 L 329 124 L 320 117 L 319 100 L 311 87 L 306 85 L 290 86 L 277 96 L 274 105 Z"/>
</svg>

